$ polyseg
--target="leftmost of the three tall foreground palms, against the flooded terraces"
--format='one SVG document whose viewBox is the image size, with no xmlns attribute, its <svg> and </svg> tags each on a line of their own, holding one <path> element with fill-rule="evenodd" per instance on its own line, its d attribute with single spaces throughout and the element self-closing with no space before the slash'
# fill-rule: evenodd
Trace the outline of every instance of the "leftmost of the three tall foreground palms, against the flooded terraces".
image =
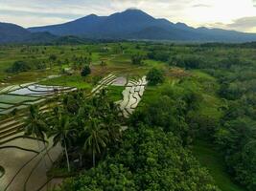
<svg viewBox="0 0 256 191">
<path fill-rule="evenodd" d="M 39 114 L 39 109 L 37 106 L 32 105 L 30 107 L 30 114 L 24 121 L 25 124 L 25 132 L 24 136 L 33 136 L 37 140 L 38 148 L 40 151 L 40 143 L 39 139 L 43 141 L 44 150 L 46 151 L 48 158 L 53 162 L 50 158 L 45 144 L 45 133 L 47 132 L 47 124 L 45 123 L 45 117 L 43 114 Z M 43 155 L 41 156 L 43 158 Z M 46 167 L 46 162 L 45 162 Z"/>
</svg>

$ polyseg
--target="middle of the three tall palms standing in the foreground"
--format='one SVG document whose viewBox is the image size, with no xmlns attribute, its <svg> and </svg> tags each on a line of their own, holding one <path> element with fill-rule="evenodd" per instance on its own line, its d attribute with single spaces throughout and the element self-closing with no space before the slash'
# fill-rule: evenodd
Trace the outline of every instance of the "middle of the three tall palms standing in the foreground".
<svg viewBox="0 0 256 191">
<path fill-rule="evenodd" d="M 68 172 L 70 172 L 70 162 L 67 152 L 67 146 L 72 141 L 74 129 L 71 129 L 71 123 L 69 117 L 63 116 L 62 114 L 58 113 L 58 117 L 54 121 L 54 126 L 49 134 L 49 137 L 53 137 L 54 146 L 60 142 L 62 148 L 64 149 L 64 153 L 67 160 L 67 168 Z"/>
</svg>

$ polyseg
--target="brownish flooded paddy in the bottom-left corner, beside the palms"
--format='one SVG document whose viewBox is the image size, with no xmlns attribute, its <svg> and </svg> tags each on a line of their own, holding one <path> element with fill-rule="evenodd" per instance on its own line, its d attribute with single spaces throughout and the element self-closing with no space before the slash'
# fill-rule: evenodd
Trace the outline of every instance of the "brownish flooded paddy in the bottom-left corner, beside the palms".
<svg viewBox="0 0 256 191">
<path fill-rule="evenodd" d="M 61 147 L 53 147 L 52 139 L 48 140 L 46 155 L 44 145 L 32 138 L 13 138 L 0 144 L 0 165 L 5 174 L 0 177 L 1 191 L 34 191 L 47 182 L 46 172 L 53 161 L 61 154 Z M 40 153 L 41 152 L 41 153 Z"/>
</svg>

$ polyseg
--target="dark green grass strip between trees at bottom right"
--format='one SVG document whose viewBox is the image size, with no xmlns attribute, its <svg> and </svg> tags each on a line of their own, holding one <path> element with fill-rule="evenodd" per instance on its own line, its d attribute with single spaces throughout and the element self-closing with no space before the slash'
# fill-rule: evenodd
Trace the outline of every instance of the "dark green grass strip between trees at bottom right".
<svg viewBox="0 0 256 191">
<path fill-rule="evenodd" d="M 197 141 L 193 147 L 193 154 L 200 164 L 209 170 L 215 183 L 222 191 L 245 191 L 241 186 L 231 180 L 227 174 L 221 154 L 211 145 L 204 141 Z"/>
</svg>

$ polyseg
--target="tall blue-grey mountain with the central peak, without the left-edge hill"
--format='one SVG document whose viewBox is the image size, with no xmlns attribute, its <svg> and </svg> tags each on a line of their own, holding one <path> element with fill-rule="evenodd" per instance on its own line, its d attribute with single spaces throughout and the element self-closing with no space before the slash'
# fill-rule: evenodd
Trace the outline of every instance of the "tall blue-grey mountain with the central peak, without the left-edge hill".
<svg viewBox="0 0 256 191">
<path fill-rule="evenodd" d="M 175 41 L 255 41 L 256 34 L 220 29 L 192 28 L 184 23 L 156 19 L 144 11 L 127 10 L 109 16 L 91 14 L 78 20 L 46 27 L 30 28 L 30 32 L 77 35 L 102 39 L 150 39 Z"/>
</svg>

